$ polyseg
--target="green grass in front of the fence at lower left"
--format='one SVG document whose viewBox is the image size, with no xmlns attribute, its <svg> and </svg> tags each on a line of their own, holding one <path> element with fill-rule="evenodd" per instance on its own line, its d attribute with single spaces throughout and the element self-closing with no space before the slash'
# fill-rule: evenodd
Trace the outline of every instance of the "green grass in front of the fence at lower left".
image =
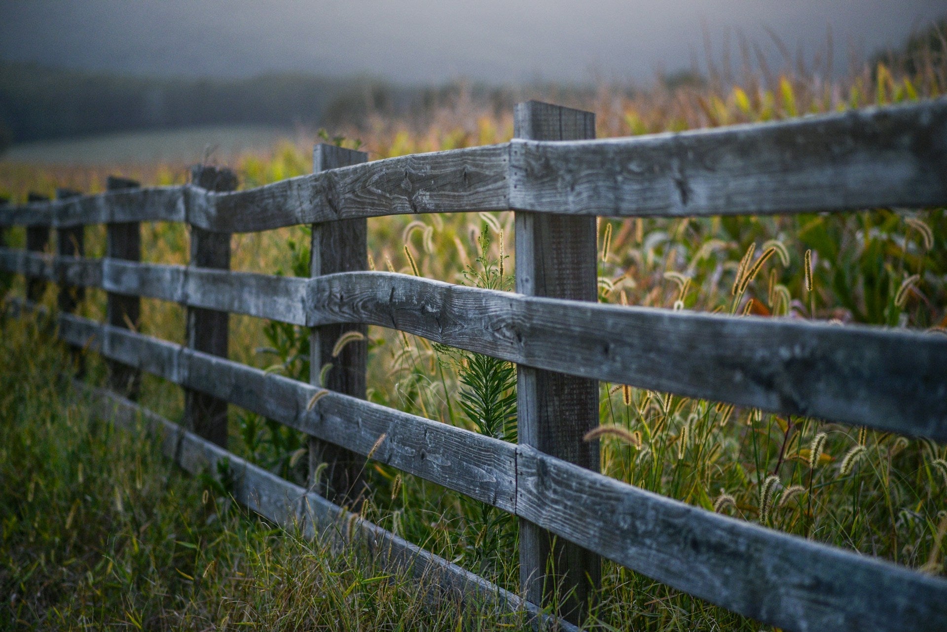
<svg viewBox="0 0 947 632">
<path fill-rule="evenodd" d="M 143 424 L 90 416 L 48 331 L 3 331 L 0 628 L 523 627 L 246 515 L 209 477 L 175 470 Z"/>
</svg>

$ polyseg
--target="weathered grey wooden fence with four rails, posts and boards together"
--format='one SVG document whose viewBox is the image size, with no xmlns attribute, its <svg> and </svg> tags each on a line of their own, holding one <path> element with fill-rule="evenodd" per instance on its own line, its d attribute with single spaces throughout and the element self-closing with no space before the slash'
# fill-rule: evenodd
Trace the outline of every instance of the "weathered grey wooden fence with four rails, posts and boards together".
<svg viewBox="0 0 947 632">
<path fill-rule="evenodd" d="M 528 102 L 502 145 L 375 162 L 320 145 L 312 175 L 245 191 L 213 168 L 183 186 L 114 179 L 100 195 L 63 191 L 0 211 L 0 226 L 27 226 L 27 251 L 0 249 L 0 267 L 27 275 L 28 300 L 60 284 L 59 335 L 113 362 L 118 393 L 134 399 L 140 371 L 188 389 L 196 433 L 156 421 L 176 437 L 166 449 L 192 469 L 228 456 L 238 499 L 277 521 L 321 530 L 349 516 L 340 505 L 362 484 L 352 464 L 370 453 L 520 519 L 526 604 L 359 523 L 389 558 L 508 606 L 536 612 L 560 584 L 574 594 L 561 614 L 579 622 L 605 557 L 789 630 L 947 629 L 947 581 L 620 483 L 581 441 L 599 424 L 597 380 L 947 439 L 943 337 L 595 302 L 597 216 L 947 205 L 947 100 L 634 138 L 594 140 L 594 129 L 592 114 Z M 365 272 L 368 217 L 509 209 L 516 293 Z M 153 220 L 191 226 L 190 265 L 140 263 L 138 222 Z M 93 223 L 108 226 L 104 258 L 82 255 L 81 227 Z M 313 225 L 312 278 L 227 270 L 230 233 L 295 224 Z M 50 227 L 57 255 L 42 252 Z M 108 292 L 106 323 L 72 313 L 83 287 Z M 130 329 L 139 296 L 187 306 L 188 343 Z M 227 360 L 227 312 L 312 327 L 312 383 Z M 318 384 L 327 349 L 365 325 L 515 362 L 519 444 L 367 402 L 364 344 L 348 345 Z M 320 494 L 215 446 L 227 402 L 311 435 L 331 469 Z"/>
</svg>

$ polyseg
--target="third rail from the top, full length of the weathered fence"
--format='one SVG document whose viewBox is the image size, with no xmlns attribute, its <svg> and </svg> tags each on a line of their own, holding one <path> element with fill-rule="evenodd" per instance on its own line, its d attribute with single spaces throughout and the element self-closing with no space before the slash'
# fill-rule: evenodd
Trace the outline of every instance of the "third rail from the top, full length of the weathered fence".
<svg viewBox="0 0 947 632">
<path fill-rule="evenodd" d="M 623 566 L 791 629 L 941 629 L 947 582 L 765 529 L 469 430 L 61 314 L 60 337 L 538 524 Z M 220 449 L 220 448 L 215 448 Z M 374 451 L 372 451 L 374 449 Z M 594 512 L 589 507 L 595 507 Z"/>
</svg>

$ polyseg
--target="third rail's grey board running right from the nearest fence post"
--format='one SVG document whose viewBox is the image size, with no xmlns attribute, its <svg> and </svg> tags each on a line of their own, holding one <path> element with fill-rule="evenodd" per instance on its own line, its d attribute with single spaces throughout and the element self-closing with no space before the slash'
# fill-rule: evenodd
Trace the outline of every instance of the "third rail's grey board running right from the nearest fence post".
<svg viewBox="0 0 947 632">
<path fill-rule="evenodd" d="M 520 516 L 759 622 L 800 632 L 947 629 L 942 578 L 714 514 L 525 446 L 516 478 Z"/>
</svg>

